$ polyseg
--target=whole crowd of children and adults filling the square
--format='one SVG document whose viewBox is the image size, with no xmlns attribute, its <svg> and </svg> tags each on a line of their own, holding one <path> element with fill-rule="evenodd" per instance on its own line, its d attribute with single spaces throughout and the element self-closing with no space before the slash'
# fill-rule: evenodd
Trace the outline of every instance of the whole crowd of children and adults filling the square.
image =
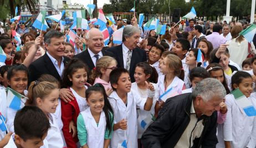
<svg viewBox="0 0 256 148">
<path fill-rule="evenodd" d="M 0 35 L 0 147 L 255 148 L 256 117 L 232 93 L 256 107 L 256 50 L 239 35 L 246 28 L 190 19 L 157 35 L 134 17 L 107 23 L 107 46 L 91 24 L 73 46 L 69 30 L 9 23 Z M 10 88 L 23 96 L 18 109 Z"/>
</svg>

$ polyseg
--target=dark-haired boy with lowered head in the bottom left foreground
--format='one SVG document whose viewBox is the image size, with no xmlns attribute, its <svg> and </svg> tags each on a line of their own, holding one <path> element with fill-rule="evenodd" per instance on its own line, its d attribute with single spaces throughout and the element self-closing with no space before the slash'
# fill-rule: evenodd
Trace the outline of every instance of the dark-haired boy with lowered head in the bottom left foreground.
<svg viewBox="0 0 256 148">
<path fill-rule="evenodd" d="M 49 120 L 41 109 L 25 106 L 16 113 L 14 131 L 4 148 L 34 148 L 43 146 L 43 140 L 50 128 Z"/>
</svg>

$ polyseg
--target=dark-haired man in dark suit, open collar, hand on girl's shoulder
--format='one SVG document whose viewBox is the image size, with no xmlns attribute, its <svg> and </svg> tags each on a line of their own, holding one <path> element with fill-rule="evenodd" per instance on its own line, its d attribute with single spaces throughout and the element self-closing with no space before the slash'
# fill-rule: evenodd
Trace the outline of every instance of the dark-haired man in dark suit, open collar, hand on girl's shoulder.
<svg viewBox="0 0 256 148">
<path fill-rule="evenodd" d="M 69 61 L 68 57 L 64 57 L 65 40 L 63 33 L 57 30 L 50 30 L 44 35 L 44 45 L 47 52 L 30 64 L 29 83 L 43 74 L 49 74 L 62 82 L 62 72 L 64 65 Z M 60 89 L 60 97 L 66 100 L 73 98 L 73 94 L 69 89 Z"/>
</svg>

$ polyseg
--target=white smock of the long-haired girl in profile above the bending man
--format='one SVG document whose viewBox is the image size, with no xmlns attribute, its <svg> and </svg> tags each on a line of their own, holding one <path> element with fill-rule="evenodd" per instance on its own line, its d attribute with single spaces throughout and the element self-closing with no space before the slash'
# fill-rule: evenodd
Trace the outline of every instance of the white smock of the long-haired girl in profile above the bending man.
<svg viewBox="0 0 256 148">
<path fill-rule="evenodd" d="M 165 93 L 165 91 L 168 91 L 168 89 L 172 88 L 170 93 L 178 93 L 181 94 L 182 93 L 182 89 L 183 86 L 185 86 L 185 82 L 182 81 L 180 78 L 178 78 L 177 76 L 175 76 L 172 80 L 172 83 L 169 84 L 169 86 L 167 87 L 167 89 L 165 90 L 165 75 L 162 75 L 158 78 L 157 81 L 157 85 L 159 88 L 159 96 L 161 96 L 163 93 Z M 176 95 L 175 95 L 176 96 Z"/>
</svg>

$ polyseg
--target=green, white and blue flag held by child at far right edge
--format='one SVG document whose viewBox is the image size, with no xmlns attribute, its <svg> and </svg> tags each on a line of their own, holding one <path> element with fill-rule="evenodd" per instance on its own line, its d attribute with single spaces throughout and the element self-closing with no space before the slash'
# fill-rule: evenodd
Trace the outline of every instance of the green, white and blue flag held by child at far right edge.
<svg viewBox="0 0 256 148">
<path fill-rule="evenodd" d="M 239 88 L 235 89 L 231 94 L 234 95 L 235 102 L 239 104 L 240 107 L 243 108 L 244 113 L 251 116 L 256 116 L 256 109 L 253 106 L 252 102 L 249 101 L 247 97 L 244 96 L 244 94 L 239 90 Z"/>
</svg>

